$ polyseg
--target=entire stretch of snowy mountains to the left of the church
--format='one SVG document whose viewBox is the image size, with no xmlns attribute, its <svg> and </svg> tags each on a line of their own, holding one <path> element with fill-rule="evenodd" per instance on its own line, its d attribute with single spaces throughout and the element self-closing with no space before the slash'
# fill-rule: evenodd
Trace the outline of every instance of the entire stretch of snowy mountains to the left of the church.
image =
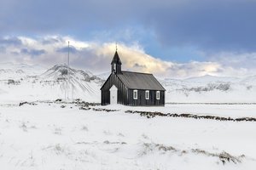
<svg viewBox="0 0 256 170">
<path fill-rule="evenodd" d="M 3 69 L 5 77 L 0 78 L 1 99 L 84 99 L 100 101 L 100 88 L 104 82 L 90 71 L 55 65 L 48 71 L 36 75 L 32 67 Z M 36 70 L 36 68 L 34 68 Z"/>
</svg>

